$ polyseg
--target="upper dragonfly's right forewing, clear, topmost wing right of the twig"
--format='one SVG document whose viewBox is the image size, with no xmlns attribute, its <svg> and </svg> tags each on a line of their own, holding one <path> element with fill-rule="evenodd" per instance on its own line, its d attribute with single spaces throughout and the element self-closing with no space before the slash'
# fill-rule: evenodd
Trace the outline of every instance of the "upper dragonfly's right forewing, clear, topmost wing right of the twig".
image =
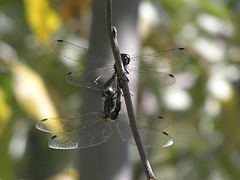
<svg viewBox="0 0 240 180">
<path fill-rule="evenodd" d="M 190 52 L 187 49 L 175 48 L 131 56 L 130 65 L 134 61 L 141 62 L 141 70 L 152 71 L 187 61 L 190 57 Z"/>
</svg>

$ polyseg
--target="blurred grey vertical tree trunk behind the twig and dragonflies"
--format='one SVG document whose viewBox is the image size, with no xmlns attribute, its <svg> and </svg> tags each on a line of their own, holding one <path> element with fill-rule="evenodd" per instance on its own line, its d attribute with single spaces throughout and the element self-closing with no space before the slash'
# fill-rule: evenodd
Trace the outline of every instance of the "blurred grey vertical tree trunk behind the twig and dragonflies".
<svg viewBox="0 0 240 180">
<path fill-rule="evenodd" d="M 139 50 L 137 13 L 139 0 L 114 0 L 113 25 L 118 29 L 121 52 L 136 54 Z M 95 0 L 90 32 L 90 49 L 112 56 L 105 26 L 105 1 Z M 103 62 L 103 66 L 108 62 Z M 88 65 L 86 65 L 88 67 Z M 91 67 L 92 69 L 93 67 Z M 83 89 L 82 89 L 83 90 Z M 137 97 L 134 94 L 133 97 Z M 99 91 L 84 89 L 84 112 L 101 111 L 102 99 Z M 123 109 L 125 103 L 123 102 Z M 128 145 L 122 142 L 113 126 L 112 137 L 101 145 L 79 150 L 81 180 L 130 180 L 131 166 L 128 158 Z"/>
</svg>

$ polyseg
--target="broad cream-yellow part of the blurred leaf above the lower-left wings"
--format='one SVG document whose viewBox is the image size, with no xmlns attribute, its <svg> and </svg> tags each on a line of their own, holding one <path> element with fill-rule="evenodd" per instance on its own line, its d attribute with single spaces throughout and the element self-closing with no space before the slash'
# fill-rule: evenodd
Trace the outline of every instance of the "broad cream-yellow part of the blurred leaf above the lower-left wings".
<svg viewBox="0 0 240 180">
<path fill-rule="evenodd" d="M 57 116 L 42 78 L 30 67 L 16 63 L 11 67 L 13 90 L 21 107 L 34 119 Z"/>
</svg>

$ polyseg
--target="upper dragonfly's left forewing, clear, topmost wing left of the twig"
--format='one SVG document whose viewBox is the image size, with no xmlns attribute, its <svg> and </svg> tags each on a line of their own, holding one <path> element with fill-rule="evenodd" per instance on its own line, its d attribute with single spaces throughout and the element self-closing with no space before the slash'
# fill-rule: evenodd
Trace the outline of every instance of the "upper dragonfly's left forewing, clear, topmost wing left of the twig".
<svg viewBox="0 0 240 180">
<path fill-rule="evenodd" d="M 102 61 L 109 59 L 114 63 L 114 59 L 105 54 L 90 51 L 87 48 L 78 46 L 76 44 L 70 43 L 64 40 L 55 40 L 51 43 L 51 48 L 56 51 L 58 54 L 62 55 L 65 58 L 68 58 L 72 61 L 79 62 L 82 55 L 87 55 L 88 62 L 94 63 L 95 66 L 99 63 L 101 65 Z"/>
</svg>

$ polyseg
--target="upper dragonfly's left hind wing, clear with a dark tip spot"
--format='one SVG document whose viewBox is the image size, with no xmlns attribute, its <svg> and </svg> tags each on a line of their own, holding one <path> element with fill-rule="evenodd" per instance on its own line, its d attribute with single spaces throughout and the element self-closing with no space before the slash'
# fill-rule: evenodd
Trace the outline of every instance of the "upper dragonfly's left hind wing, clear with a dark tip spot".
<svg viewBox="0 0 240 180">
<path fill-rule="evenodd" d="M 66 80 L 69 84 L 100 90 L 114 72 L 113 66 L 87 71 L 79 70 L 68 73 Z"/>
</svg>

